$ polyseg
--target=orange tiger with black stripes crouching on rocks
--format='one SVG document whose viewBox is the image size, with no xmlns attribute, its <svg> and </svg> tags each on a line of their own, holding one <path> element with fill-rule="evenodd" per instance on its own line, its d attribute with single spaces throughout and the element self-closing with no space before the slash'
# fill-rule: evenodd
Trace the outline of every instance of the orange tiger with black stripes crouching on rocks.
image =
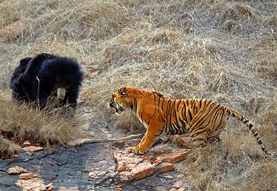
<svg viewBox="0 0 277 191">
<path fill-rule="evenodd" d="M 200 154 L 190 166 L 197 166 L 204 161 L 208 153 L 207 143 L 220 140 L 230 116 L 242 121 L 265 154 L 269 154 L 253 124 L 238 111 L 213 100 L 181 99 L 173 100 L 163 96 L 159 91 L 146 91 L 132 87 L 122 87 L 112 93 L 109 107 L 120 115 L 131 110 L 147 129 L 141 142 L 134 147 L 127 147 L 129 152 L 145 154 L 159 135 L 189 134 L 193 145 L 198 147 Z"/>
</svg>

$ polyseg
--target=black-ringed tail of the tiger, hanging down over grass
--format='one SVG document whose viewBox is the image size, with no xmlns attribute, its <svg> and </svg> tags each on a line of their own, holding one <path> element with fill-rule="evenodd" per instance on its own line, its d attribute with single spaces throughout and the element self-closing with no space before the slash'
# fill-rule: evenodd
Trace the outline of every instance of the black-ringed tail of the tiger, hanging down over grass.
<svg viewBox="0 0 277 191">
<path fill-rule="evenodd" d="M 229 113 L 229 116 L 233 116 L 233 118 L 237 118 L 238 120 L 242 121 L 245 125 L 247 125 L 249 130 L 252 132 L 253 136 L 256 137 L 256 140 L 257 140 L 258 144 L 260 145 L 262 151 L 265 152 L 265 154 L 271 155 L 265 148 L 265 145 L 262 143 L 262 140 L 260 139 L 258 131 L 256 131 L 256 129 L 253 127 L 253 124 L 251 122 L 249 122 L 249 120 L 247 120 L 247 118 L 242 116 L 242 114 L 238 113 L 237 111 L 234 111 L 233 109 L 230 109 L 230 108 L 226 108 L 226 109 Z"/>
</svg>

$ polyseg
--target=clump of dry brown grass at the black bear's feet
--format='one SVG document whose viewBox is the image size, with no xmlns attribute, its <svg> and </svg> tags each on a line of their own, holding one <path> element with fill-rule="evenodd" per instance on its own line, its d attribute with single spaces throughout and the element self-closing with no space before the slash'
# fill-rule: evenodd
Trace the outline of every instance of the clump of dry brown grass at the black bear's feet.
<svg viewBox="0 0 277 191">
<path fill-rule="evenodd" d="M 4 152 L 10 143 L 21 145 L 28 140 L 31 145 L 51 147 L 66 144 L 70 140 L 82 136 L 78 131 L 76 117 L 69 117 L 64 109 L 40 111 L 37 107 L 27 104 L 17 105 L 1 91 L 0 132 L 1 145 Z M 72 113 L 71 113 L 72 114 Z M 12 152 L 12 149 L 8 152 Z"/>
</svg>

